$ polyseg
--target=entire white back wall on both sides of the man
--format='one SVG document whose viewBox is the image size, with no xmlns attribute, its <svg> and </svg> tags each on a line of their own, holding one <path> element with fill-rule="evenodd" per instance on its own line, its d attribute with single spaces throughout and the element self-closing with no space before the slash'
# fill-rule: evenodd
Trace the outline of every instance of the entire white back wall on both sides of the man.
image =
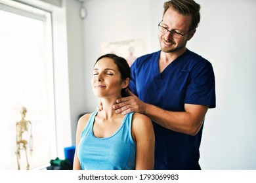
<svg viewBox="0 0 256 183">
<path fill-rule="evenodd" d="M 93 63 L 102 42 L 144 39 L 146 53 L 159 49 L 163 0 L 85 1 L 85 112 L 96 110 L 91 90 Z M 203 129 L 202 169 L 256 169 L 256 1 L 197 0 L 202 21 L 188 48 L 213 64 L 217 108 Z M 83 90 L 83 89 L 82 89 Z"/>
</svg>

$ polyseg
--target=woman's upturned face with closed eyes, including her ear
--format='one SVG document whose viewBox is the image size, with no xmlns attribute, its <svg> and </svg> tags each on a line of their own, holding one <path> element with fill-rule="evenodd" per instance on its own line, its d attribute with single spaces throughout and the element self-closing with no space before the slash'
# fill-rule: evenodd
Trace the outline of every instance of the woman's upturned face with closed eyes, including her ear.
<svg viewBox="0 0 256 183">
<path fill-rule="evenodd" d="M 121 73 L 111 58 L 98 60 L 93 69 L 91 84 L 96 97 L 115 99 L 121 97 L 122 88 L 128 85 L 126 81 L 121 80 Z"/>
</svg>

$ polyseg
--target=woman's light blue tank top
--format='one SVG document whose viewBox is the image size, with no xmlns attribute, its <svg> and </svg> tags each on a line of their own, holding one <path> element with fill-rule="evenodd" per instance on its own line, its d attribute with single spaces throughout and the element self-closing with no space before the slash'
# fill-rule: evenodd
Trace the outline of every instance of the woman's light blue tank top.
<svg viewBox="0 0 256 183">
<path fill-rule="evenodd" d="M 133 170 L 135 169 L 136 145 L 131 136 L 133 112 L 126 114 L 114 135 L 98 138 L 93 134 L 97 111 L 81 132 L 77 147 L 81 169 L 85 170 Z"/>
</svg>

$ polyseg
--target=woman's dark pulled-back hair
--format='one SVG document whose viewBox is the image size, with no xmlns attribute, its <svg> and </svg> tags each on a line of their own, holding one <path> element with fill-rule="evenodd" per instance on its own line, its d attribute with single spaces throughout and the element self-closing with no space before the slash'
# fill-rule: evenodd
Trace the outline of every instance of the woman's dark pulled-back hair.
<svg viewBox="0 0 256 183">
<path fill-rule="evenodd" d="M 114 63 L 116 63 L 117 68 L 119 70 L 119 72 L 121 73 L 121 79 L 125 80 L 126 78 L 131 78 L 131 70 L 129 67 L 129 64 L 127 63 L 126 59 L 121 58 L 119 56 L 117 56 L 116 54 L 105 54 L 103 56 L 100 56 L 95 64 L 102 58 L 111 58 L 113 59 Z M 127 88 L 129 89 L 129 86 L 127 86 Z M 126 88 L 123 88 L 121 90 L 121 97 L 127 97 L 129 96 L 126 92 Z"/>
</svg>

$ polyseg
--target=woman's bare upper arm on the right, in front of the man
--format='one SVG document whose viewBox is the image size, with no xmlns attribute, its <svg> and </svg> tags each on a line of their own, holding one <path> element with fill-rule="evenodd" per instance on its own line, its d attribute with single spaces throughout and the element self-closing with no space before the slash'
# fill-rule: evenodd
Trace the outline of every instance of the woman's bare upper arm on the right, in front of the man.
<svg viewBox="0 0 256 183">
<path fill-rule="evenodd" d="M 150 118 L 135 112 L 133 114 L 132 134 L 136 142 L 135 169 L 154 169 L 155 135 Z"/>
</svg>

